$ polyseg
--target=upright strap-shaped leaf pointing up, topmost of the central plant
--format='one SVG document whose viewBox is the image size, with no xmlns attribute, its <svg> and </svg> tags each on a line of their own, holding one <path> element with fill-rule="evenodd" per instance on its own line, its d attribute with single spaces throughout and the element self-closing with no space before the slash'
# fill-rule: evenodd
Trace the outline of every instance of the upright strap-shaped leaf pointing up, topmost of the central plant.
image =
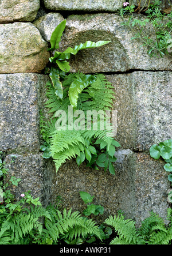
<svg viewBox="0 0 172 256">
<path fill-rule="evenodd" d="M 56 29 L 54 29 L 52 36 L 50 38 L 50 44 L 51 44 L 51 48 L 49 48 L 48 50 L 54 50 L 59 48 L 59 42 L 61 40 L 61 36 L 62 33 L 64 32 L 64 29 L 66 27 L 66 20 L 63 20 Z"/>
</svg>

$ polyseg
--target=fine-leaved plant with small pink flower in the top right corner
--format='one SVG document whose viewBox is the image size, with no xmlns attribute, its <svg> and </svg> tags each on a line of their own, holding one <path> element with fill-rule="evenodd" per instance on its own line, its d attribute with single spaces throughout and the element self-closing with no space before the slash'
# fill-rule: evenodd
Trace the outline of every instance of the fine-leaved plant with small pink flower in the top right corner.
<svg viewBox="0 0 172 256">
<path fill-rule="evenodd" d="M 141 1 L 138 1 L 138 9 L 135 10 L 134 5 L 129 5 L 126 3 L 124 7 L 120 10 L 120 15 L 123 18 L 122 25 L 127 26 L 134 33 L 134 37 L 131 40 L 140 40 L 143 43 L 143 46 L 148 47 L 147 54 L 150 57 L 164 57 L 165 55 L 171 56 L 171 47 L 172 47 L 172 12 L 166 14 L 162 13 L 159 5 L 161 1 L 155 0 L 153 4 L 150 4 L 150 1 L 146 1 L 143 5 L 143 9 L 148 4 L 146 9 L 140 8 Z M 136 18 L 133 14 L 139 10 L 139 12 L 144 11 L 146 13 L 146 18 L 143 16 Z M 125 13 L 130 13 L 130 17 L 127 18 L 124 16 Z M 146 35 L 145 28 L 153 27 L 153 34 Z"/>
</svg>

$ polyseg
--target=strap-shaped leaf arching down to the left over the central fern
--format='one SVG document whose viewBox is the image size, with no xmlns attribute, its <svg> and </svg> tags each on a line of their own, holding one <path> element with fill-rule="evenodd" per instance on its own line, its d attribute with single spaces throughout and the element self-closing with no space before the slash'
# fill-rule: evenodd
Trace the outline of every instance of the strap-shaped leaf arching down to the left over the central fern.
<svg viewBox="0 0 172 256">
<path fill-rule="evenodd" d="M 87 88 L 88 85 L 92 84 L 95 79 L 95 76 L 85 75 L 84 77 L 77 78 L 72 82 L 69 88 L 69 100 L 73 108 L 76 108 L 77 106 L 77 99 L 79 98 L 79 94 L 83 91 L 84 88 Z"/>
</svg>

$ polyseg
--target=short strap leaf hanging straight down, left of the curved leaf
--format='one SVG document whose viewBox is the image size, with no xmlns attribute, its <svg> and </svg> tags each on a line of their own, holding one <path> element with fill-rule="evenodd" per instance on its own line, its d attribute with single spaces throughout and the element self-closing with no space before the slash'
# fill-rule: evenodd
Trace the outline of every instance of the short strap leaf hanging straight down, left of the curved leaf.
<svg viewBox="0 0 172 256">
<path fill-rule="evenodd" d="M 62 92 L 62 84 L 60 82 L 60 72 L 59 72 L 59 70 L 56 69 L 55 67 L 51 67 L 49 76 L 52 80 L 54 89 L 56 90 L 57 97 L 62 99 L 63 92 Z"/>
</svg>

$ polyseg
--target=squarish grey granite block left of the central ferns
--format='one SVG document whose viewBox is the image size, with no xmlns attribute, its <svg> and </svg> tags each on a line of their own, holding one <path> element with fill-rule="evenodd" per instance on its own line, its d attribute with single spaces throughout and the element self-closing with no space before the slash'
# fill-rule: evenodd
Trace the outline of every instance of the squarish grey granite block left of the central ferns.
<svg viewBox="0 0 172 256">
<path fill-rule="evenodd" d="M 42 74 L 0 75 L 1 150 L 39 150 L 39 110 L 47 81 Z"/>
</svg>

